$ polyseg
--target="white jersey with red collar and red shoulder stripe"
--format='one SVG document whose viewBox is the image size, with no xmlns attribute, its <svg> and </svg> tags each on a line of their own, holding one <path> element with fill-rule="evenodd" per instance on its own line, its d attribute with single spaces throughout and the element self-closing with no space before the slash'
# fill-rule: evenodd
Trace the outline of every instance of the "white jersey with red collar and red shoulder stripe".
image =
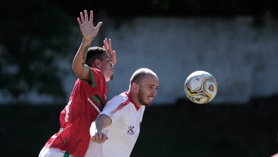
<svg viewBox="0 0 278 157">
<path fill-rule="evenodd" d="M 85 156 L 130 156 L 140 132 L 145 106 L 140 108 L 127 92 L 112 98 L 101 114 L 108 115 L 112 123 L 103 129 L 109 138 L 104 143 L 91 142 Z"/>
</svg>

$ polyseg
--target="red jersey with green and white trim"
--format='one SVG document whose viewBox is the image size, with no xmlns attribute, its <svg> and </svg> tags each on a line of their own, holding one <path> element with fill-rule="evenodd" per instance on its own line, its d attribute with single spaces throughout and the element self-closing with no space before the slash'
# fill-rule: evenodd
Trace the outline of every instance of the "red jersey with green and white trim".
<svg viewBox="0 0 278 157">
<path fill-rule="evenodd" d="M 75 157 L 84 156 L 90 141 L 90 126 L 102 111 L 107 98 L 107 84 L 101 70 L 90 68 L 92 85 L 76 81 L 68 105 L 60 114 L 60 131 L 45 147 L 68 151 Z"/>
</svg>

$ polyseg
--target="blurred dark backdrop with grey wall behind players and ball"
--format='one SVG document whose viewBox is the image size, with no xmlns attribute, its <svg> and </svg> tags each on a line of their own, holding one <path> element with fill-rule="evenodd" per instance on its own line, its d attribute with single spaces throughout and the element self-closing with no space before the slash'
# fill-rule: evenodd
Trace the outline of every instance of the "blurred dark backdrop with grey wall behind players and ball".
<svg viewBox="0 0 278 157">
<path fill-rule="evenodd" d="M 58 132 L 76 75 L 77 17 L 103 25 L 117 53 L 108 100 L 146 67 L 160 87 L 131 156 L 271 156 L 278 152 L 277 1 L 11 1 L 1 5 L 0 150 L 37 156 Z M 184 94 L 194 71 L 211 73 L 208 104 Z"/>
</svg>

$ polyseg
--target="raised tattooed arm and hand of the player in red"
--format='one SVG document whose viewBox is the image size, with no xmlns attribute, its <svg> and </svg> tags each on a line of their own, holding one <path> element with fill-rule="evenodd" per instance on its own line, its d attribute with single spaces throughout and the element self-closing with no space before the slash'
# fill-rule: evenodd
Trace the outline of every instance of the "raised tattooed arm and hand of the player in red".
<svg viewBox="0 0 278 157">
<path fill-rule="evenodd" d="M 83 13 L 80 13 L 81 20 L 77 18 L 77 21 L 80 25 L 80 30 L 83 35 L 83 40 L 81 43 L 80 48 L 78 49 L 73 63 L 72 63 L 72 69 L 76 73 L 76 75 L 79 78 L 82 78 L 86 81 L 90 81 L 90 73 L 89 73 L 89 66 L 85 64 L 88 48 L 94 40 L 94 38 L 97 36 L 100 26 L 102 25 L 102 22 L 99 22 L 96 27 L 94 27 L 93 24 L 93 13 L 90 11 L 90 17 L 88 20 L 88 14 L 87 11 L 84 11 Z"/>
</svg>

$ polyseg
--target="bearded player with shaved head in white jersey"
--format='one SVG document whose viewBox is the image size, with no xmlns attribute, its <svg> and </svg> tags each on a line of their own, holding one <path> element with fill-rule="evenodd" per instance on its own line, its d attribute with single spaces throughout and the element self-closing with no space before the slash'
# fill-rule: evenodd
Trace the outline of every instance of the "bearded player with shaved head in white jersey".
<svg viewBox="0 0 278 157">
<path fill-rule="evenodd" d="M 129 156 L 140 133 L 145 106 L 151 106 L 158 87 L 152 70 L 135 71 L 129 90 L 112 98 L 92 123 L 85 156 Z"/>
</svg>

